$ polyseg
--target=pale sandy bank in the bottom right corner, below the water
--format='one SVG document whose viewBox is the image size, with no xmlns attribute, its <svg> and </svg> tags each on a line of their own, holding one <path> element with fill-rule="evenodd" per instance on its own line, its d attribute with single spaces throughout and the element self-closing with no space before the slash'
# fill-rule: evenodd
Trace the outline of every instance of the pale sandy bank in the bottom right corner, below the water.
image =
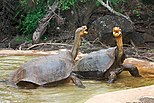
<svg viewBox="0 0 154 103">
<path fill-rule="evenodd" d="M 85 103 L 154 103 L 154 85 L 96 95 Z"/>
</svg>

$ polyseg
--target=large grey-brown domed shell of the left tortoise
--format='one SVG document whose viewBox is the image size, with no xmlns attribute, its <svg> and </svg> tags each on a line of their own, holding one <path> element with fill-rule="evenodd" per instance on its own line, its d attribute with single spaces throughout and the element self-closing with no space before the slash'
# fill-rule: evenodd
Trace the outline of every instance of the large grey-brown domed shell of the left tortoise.
<svg viewBox="0 0 154 103">
<path fill-rule="evenodd" d="M 36 85 L 45 85 L 69 77 L 74 60 L 70 51 L 43 56 L 23 64 L 12 76 L 11 81 L 17 86 L 29 82 Z"/>
</svg>

